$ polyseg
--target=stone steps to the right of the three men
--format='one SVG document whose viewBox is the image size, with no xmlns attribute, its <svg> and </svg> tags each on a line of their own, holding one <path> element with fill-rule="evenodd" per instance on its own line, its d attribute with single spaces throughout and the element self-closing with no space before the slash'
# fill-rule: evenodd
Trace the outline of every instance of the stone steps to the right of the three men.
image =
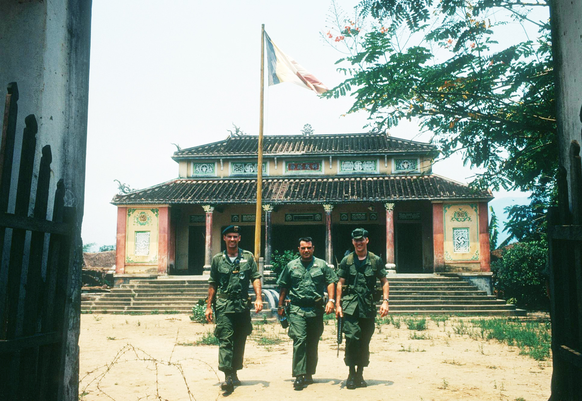
<svg viewBox="0 0 582 401">
<path fill-rule="evenodd" d="M 389 277 L 390 313 L 524 316 L 526 311 L 487 295 L 460 278 L 438 275 Z"/>
</svg>

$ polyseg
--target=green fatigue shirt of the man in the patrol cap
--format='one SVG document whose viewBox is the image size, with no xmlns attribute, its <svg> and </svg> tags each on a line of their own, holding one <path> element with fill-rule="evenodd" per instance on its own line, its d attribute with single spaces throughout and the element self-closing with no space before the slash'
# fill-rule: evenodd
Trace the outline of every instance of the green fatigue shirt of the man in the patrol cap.
<svg viewBox="0 0 582 401">
<path fill-rule="evenodd" d="M 382 260 L 371 252 L 359 267 L 356 265 L 357 257 L 352 252 L 339 264 L 338 276 L 345 279 L 347 285 L 347 288 L 342 288 L 342 310 L 349 315 L 357 312 L 358 317 L 372 318 L 376 315 L 373 296 L 376 280 L 386 277 L 386 269 Z"/>
</svg>

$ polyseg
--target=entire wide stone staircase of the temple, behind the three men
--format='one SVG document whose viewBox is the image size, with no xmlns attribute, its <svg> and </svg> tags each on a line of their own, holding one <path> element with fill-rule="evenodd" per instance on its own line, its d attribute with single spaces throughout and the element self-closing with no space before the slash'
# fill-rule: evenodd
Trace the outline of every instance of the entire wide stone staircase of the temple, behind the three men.
<svg viewBox="0 0 582 401">
<path fill-rule="evenodd" d="M 462 279 L 439 275 L 395 275 L 390 283 L 390 313 L 419 315 L 523 316 L 526 311 L 487 295 Z M 252 292 L 252 291 L 251 291 Z M 208 283 L 203 279 L 131 280 L 105 294 L 83 294 L 85 313 L 191 313 L 205 299 Z M 278 294 L 264 289 L 264 313 L 253 318 L 275 317 Z M 254 301 L 254 296 L 253 296 Z M 379 304 L 378 304 L 379 308 Z"/>
</svg>

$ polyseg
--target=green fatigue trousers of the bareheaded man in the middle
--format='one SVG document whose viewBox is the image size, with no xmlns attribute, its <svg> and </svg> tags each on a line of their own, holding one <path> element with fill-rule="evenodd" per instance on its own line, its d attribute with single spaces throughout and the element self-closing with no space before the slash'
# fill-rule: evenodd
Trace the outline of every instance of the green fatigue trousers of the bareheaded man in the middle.
<svg viewBox="0 0 582 401">
<path fill-rule="evenodd" d="M 324 332 L 323 316 L 289 314 L 289 337 L 293 339 L 293 377 L 315 374 L 317 346 Z"/>
</svg>

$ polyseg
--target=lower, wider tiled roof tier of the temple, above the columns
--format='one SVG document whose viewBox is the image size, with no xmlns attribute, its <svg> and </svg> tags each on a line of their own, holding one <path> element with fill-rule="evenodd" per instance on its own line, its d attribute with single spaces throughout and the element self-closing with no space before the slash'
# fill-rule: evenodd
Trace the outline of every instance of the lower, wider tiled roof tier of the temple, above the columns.
<svg viewBox="0 0 582 401">
<path fill-rule="evenodd" d="M 491 191 L 470 187 L 438 175 L 391 175 L 373 178 L 268 178 L 264 203 L 354 203 L 398 200 L 491 199 Z M 255 203 L 256 179 L 174 179 L 128 194 L 115 205 Z"/>
</svg>

